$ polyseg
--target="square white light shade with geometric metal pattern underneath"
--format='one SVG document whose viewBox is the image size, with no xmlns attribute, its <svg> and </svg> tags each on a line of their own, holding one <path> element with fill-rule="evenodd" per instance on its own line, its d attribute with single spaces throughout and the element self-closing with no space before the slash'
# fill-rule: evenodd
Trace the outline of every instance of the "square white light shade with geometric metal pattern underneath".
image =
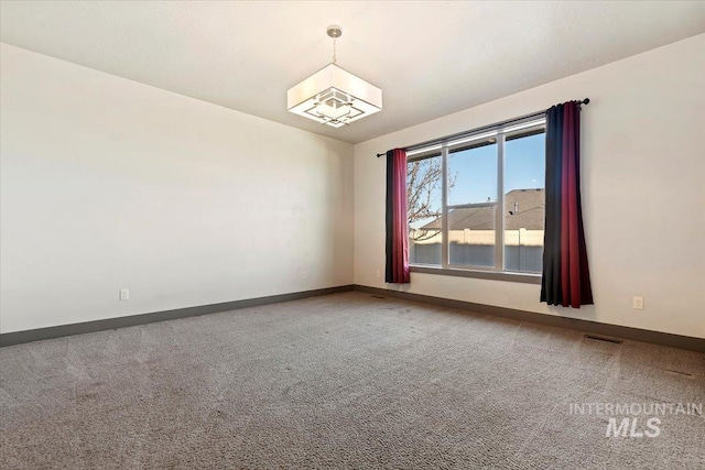
<svg viewBox="0 0 705 470">
<path fill-rule="evenodd" d="M 286 91 L 294 114 L 334 128 L 382 110 L 382 90 L 329 64 Z"/>
</svg>

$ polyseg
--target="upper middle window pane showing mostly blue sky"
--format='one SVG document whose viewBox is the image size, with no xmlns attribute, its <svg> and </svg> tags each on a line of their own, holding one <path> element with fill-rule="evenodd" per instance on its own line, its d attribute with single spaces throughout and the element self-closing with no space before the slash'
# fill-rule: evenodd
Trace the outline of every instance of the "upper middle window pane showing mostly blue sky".
<svg viewBox="0 0 705 470">
<path fill-rule="evenodd" d="M 448 206 L 497 200 L 495 139 L 448 155 Z"/>
</svg>

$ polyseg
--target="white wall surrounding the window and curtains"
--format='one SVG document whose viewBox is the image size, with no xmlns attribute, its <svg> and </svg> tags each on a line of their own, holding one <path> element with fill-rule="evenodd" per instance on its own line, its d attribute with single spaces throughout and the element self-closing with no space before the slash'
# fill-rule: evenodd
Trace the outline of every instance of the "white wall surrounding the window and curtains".
<svg viewBox="0 0 705 470">
<path fill-rule="evenodd" d="M 705 338 L 703 51 L 698 35 L 356 145 L 355 283 L 400 288 L 376 276 L 384 265 L 376 153 L 589 97 L 582 171 L 595 306 L 547 307 L 539 285 L 432 274 L 412 273 L 402 289 Z M 632 296 L 644 297 L 644 310 L 632 309 Z"/>
</svg>

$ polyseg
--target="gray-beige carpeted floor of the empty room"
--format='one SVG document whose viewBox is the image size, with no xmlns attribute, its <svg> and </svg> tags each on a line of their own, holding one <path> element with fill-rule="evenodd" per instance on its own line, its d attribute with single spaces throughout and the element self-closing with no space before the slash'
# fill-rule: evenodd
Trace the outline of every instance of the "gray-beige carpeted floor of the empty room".
<svg viewBox="0 0 705 470">
<path fill-rule="evenodd" d="M 657 437 L 571 413 L 702 404 L 705 354 L 362 293 L 7 347 L 0 368 L 3 469 L 705 468 L 697 409 L 628 416 Z"/>
</svg>

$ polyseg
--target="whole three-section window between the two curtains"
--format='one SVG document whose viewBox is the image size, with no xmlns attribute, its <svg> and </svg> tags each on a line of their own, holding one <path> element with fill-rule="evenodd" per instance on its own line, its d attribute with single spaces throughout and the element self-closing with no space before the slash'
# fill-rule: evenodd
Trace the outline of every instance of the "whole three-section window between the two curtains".
<svg viewBox="0 0 705 470">
<path fill-rule="evenodd" d="M 410 264 L 540 273 L 544 132 L 538 114 L 410 149 Z"/>
</svg>

